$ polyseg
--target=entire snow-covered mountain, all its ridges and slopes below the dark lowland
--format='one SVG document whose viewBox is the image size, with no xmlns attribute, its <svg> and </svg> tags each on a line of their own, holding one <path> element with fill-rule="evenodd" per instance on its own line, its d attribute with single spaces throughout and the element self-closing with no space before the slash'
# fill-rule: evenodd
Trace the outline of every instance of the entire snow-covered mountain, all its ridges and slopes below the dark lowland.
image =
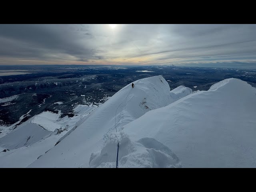
<svg viewBox="0 0 256 192">
<path fill-rule="evenodd" d="M 170 91 L 162 76 L 133 83 L 98 108 L 77 106 L 75 117 L 19 125 L 0 138 L 0 167 L 256 166 L 256 88 L 234 78 L 197 92 Z"/>
</svg>

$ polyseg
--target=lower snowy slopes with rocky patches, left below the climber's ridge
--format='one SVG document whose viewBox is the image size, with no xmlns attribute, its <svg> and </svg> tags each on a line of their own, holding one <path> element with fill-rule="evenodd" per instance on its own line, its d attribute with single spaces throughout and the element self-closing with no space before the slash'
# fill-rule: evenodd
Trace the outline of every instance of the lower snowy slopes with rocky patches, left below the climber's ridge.
<svg viewBox="0 0 256 192">
<path fill-rule="evenodd" d="M 0 167 L 27 167 L 54 147 L 65 134 L 76 127 L 82 117 L 89 116 L 94 109 L 95 107 L 79 105 L 74 108 L 74 117 L 65 116 L 61 119 L 60 112 L 43 112 L 18 125 L 13 132 L 0 138 Z"/>
</svg>

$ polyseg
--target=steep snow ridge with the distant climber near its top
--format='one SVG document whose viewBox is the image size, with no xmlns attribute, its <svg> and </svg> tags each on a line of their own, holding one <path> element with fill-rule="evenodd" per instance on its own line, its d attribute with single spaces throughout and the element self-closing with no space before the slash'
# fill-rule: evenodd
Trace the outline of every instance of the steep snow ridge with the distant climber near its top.
<svg viewBox="0 0 256 192">
<path fill-rule="evenodd" d="M 116 130 L 119 132 L 124 125 L 146 112 L 174 101 L 170 96 L 169 84 L 162 76 L 140 79 L 135 81 L 134 85 L 132 88 L 132 84 L 128 84 L 114 94 L 94 110 L 90 117 L 81 120 L 66 138 L 29 167 L 89 167 L 89 162 L 92 162 L 92 167 L 96 167 L 99 162 L 93 158 L 97 155 L 92 153 L 97 154 L 97 151 L 102 150 L 106 145 L 104 138 L 108 138 Z M 139 141 L 136 141 L 136 144 L 139 144 Z M 116 148 L 117 146 L 108 148 L 111 159 L 116 158 Z M 172 159 L 170 152 L 166 154 Z"/>
</svg>

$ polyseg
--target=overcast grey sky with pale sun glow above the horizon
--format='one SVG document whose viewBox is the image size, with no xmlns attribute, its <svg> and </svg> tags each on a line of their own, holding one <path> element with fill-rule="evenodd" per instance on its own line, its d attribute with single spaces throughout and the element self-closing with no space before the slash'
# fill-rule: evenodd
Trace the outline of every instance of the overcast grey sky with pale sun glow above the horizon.
<svg viewBox="0 0 256 192">
<path fill-rule="evenodd" d="M 256 25 L 0 24 L 0 64 L 256 67 Z"/>
</svg>

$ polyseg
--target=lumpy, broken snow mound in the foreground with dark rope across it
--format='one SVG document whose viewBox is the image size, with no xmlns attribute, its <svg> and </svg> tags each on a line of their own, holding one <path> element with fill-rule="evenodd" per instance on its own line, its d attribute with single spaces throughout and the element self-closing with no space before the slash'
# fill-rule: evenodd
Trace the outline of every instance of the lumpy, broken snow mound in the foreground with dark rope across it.
<svg viewBox="0 0 256 192">
<path fill-rule="evenodd" d="M 115 168 L 119 142 L 118 168 L 176 168 L 181 167 L 178 157 L 154 138 L 133 141 L 124 132 L 113 133 L 106 138 L 101 151 L 92 153 L 91 168 Z"/>
</svg>

